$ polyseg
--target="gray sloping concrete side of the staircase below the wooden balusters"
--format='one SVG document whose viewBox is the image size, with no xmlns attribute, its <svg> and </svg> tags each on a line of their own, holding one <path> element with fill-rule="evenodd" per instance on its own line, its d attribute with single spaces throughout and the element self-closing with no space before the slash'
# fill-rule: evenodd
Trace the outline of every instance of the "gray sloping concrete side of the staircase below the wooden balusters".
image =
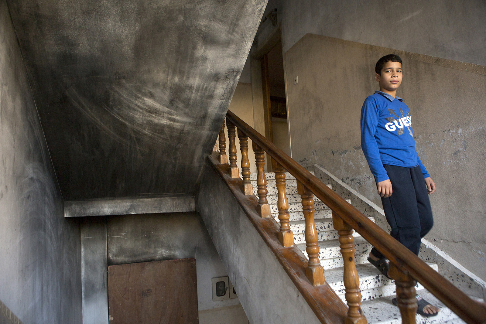
<svg viewBox="0 0 486 324">
<path fill-rule="evenodd" d="M 210 166 L 196 194 L 196 210 L 250 323 L 320 323 L 226 183 Z"/>
</svg>

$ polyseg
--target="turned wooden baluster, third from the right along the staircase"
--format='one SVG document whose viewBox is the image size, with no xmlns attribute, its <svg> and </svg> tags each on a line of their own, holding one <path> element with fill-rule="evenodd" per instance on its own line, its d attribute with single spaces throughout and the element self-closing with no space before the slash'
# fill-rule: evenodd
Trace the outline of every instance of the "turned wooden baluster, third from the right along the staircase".
<svg viewBox="0 0 486 324">
<path fill-rule="evenodd" d="M 297 181 L 297 192 L 302 198 L 302 209 L 305 218 L 305 241 L 309 263 L 305 274 L 313 286 L 324 285 L 324 268 L 319 261 L 319 243 L 314 223 L 314 198 L 312 191 Z"/>
</svg>

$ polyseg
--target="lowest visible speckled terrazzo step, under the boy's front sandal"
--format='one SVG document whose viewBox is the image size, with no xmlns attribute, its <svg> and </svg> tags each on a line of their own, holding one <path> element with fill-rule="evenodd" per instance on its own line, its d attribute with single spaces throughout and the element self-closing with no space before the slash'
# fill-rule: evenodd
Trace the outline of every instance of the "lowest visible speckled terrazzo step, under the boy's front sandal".
<svg viewBox="0 0 486 324">
<path fill-rule="evenodd" d="M 433 294 L 427 290 L 417 290 L 417 294 L 440 309 L 437 316 L 423 317 L 416 316 L 417 324 L 463 324 L 465 323 L 454 314 L 451 309 L 444 306 Z M 401 324 L 400 310 L 392 304 L 395 296 L 386 296 L 373 300 L 364 301 L 361 304 L 364 316 L 368 324 Z M 471 297 L 473 298 L 473 297 Z M 476 299 L 476 298 L 475 298 Z"/>
</svg>

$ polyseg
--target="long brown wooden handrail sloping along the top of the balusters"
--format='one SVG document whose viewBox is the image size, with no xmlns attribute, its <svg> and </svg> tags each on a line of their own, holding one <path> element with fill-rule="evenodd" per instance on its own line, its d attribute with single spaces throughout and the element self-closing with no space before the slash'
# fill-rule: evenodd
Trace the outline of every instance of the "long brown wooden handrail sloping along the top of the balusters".
<svg viewBox="0 0 486 324">
<path fill-rule="evenodd" d="M 226 118 L 238 127 L 239 131 L 251 138 L 256 145 L 276 160 L 285 170 L 290 172 L 295 179 L 309 188 L 317 198 L 376 247 L 400 271 L 409 274 L 420 282 L 465 322 L 469 324 L 486 323 L 485 307 L 470 299 L 468 295 L 434 271 L 418 256 L 366 218 L 358 209 L 348 204 L 346 200 L 324 185 L 290 156 L 261 136 L 260 133 L 242 119 L 238 118 L 238 116 L 228 110 Z"/>
</svg>

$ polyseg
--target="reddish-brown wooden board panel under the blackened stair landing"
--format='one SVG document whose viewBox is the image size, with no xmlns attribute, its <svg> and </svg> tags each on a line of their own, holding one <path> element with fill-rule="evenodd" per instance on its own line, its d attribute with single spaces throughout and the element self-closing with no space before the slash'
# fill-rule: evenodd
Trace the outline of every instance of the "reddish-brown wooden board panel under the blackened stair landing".
<svg viewBox="0 0 486 324">
<path fill-rule="evenodd" d="M 196 260 L 108 267 L 110 324 L 198 324 Z"/>
</svg>

